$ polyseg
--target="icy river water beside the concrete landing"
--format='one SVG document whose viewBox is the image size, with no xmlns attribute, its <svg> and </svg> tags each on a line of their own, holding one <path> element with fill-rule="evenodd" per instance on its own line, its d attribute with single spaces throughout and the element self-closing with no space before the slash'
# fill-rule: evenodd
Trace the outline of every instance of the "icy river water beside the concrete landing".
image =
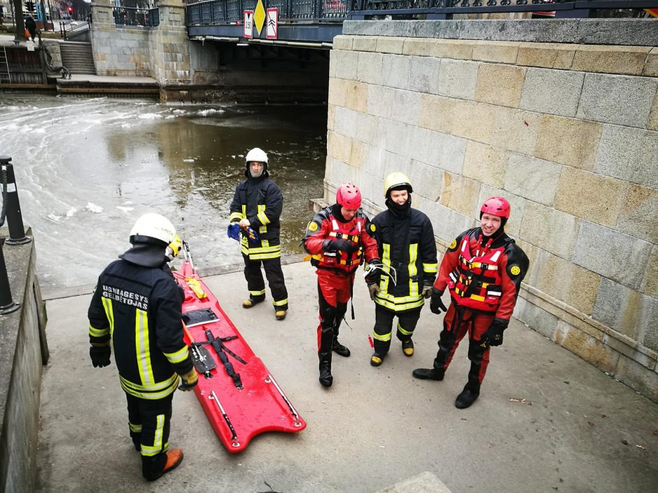
<svg viewBox="0 0 658 493">
<path fill-rule="evenodd" d="M 309 199 L 322 196 L 326 117 L 323 106 L 0 94 L 0 155 L 12 158 L 42 287 L 95 283 L 146 212 L 172 220 L 197 269 L 241 263 L 226 227 L 253 147 L 283 192 L 283 255 L 302 252 Z"/>
</svg>

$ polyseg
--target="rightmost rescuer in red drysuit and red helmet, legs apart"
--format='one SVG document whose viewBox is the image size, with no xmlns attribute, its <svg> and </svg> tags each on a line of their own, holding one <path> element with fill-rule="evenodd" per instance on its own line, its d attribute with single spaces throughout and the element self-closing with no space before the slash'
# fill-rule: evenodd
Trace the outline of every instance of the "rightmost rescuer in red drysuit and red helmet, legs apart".
<svg viewBox="0 0 658 493">
<path fill-rule="evenodd" d="M 431 369 L 413 371 L 416 378 L 443 380 L 457 345 L 468 333 L 468 383 L 455 406 L 468 408 L 479 396 L 489 348 L 503 343 L 503 331 L 510 322 L 514 305 L 528 271 L 528 257 L 505 234 L 510 203 L 503 197 L 486 199 L 480 209 L 480 227 L 468 229 L 449 246 L 434 283 L 430 310 L 447 313 L 439 336 L 439 351 Z M 446 308 L 441 296 L 450 291 Z"/>
</svg>

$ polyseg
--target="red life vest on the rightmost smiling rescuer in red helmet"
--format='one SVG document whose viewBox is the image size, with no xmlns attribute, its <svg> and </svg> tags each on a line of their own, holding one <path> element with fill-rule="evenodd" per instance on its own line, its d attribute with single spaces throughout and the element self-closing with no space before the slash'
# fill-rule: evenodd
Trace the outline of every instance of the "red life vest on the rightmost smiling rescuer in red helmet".
<svg viewBox="0 0 658 493">
<path fill-rule="evenodd" d="M 475 254 L 471 252 L 473 241 Z M 482 245 L 482 236 L 464 236 L 459 245 L 456 267 L 449 273 L 448 288 L 458 306 L 472 310 L 495 312 L 503 295 L 503 278 L 500 275 L 500 257 L 505 253 L 505 245 L 489 249 L 491 239 Z"/>
</svg>

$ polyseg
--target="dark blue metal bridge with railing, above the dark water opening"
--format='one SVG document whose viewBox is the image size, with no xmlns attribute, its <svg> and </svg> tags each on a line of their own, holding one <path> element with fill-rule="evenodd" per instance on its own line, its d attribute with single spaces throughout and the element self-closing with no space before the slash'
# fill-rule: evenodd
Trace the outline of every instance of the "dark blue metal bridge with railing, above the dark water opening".
<svg viewBox="0 0 658 493">
<path fill-rule="evenodd" d="M 244 36 L 244 13 L 276 8 L 276 38 L 266 37 L 258 24 L 253 38 Z M 186 0 L 186 26 L 191 39 L 239 43 L 303 43 L 307 48 L 331 48 L 345 20 L 452 20 L 482 15 L 587 18 L 602 10 L 624 9 L 617 15 L 636 16 L 657 7 L 655 0 Z M 597 13 L 598 12 L 598 13 Z M 609 15 L 609 14 L 608 14 Z M 656 12 L 658 15 L 658 11 Z"/>
</svg>

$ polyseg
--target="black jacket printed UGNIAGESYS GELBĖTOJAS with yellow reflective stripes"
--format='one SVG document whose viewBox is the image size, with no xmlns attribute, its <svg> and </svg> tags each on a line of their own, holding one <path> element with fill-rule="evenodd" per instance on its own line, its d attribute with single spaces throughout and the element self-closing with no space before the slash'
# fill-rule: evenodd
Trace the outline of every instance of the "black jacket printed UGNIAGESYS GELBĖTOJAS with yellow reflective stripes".
<svg viewBox="0 0 658 493">
<path fill-rule="evenodd" d="M 103 271 L 87 312 L 92 344 L 113 342 L 123 390 L 162 399 L 192 369 L 183 342 L 181 296 L 167 266 L 117 260 Z"/>
</svg>

